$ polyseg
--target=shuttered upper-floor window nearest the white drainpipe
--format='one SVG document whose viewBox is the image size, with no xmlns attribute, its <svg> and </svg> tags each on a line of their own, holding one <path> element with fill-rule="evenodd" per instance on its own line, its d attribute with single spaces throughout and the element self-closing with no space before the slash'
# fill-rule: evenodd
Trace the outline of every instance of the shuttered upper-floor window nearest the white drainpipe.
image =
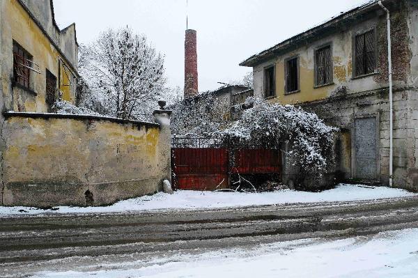
<svg viewBox="0 0 418 278">
<path fill-rule="evenodd" d="M 355 37 L 355 76 L 368 75 L 376 69 L 374 30 Z"/>
</svg>

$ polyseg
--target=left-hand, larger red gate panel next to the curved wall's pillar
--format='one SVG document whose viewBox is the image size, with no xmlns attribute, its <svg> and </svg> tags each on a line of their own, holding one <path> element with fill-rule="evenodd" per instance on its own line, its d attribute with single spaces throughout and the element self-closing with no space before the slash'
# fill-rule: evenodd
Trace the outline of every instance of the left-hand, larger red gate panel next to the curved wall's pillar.
<svg viewBox="0 0 418 278">
<path fill-rule="evenodd" d="M 229 187 L 228 150 L 224 148 L 172 148 L 174 188 L 215 190 Z"/>
</svg>

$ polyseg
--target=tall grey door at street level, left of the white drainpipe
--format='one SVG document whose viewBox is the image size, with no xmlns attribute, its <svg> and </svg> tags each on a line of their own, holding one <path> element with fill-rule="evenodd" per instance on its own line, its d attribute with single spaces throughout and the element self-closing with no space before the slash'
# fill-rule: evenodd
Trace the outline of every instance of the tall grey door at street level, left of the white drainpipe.
<svg viewBox="0 0 418 278">
<path fill-rule="evenodd" d="M 376 180 L 378 169 L 376 124 L 376 118 L 355 120 L 355 178 Z"/>
</svg>

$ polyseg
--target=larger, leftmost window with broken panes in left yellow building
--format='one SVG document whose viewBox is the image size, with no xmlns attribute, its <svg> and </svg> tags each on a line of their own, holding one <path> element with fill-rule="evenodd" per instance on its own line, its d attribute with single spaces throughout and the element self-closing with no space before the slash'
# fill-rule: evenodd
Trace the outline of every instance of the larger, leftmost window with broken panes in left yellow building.
<svg viewBox="0 0 418 278">
<path fill-rule="evenodd" d="M 29 88 L 32 56 L 23 47 L 13 42 L 13 78 L 15 84 Z"/>
</svg>

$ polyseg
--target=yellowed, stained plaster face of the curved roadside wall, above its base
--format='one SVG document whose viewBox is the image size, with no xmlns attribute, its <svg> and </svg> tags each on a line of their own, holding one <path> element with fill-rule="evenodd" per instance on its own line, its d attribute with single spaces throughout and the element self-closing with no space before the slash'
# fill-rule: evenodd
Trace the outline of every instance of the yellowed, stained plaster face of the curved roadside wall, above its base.
<svg viewBox="0 0 418 278">
<path fill-rule="evenodd" d="M 153 178 L 160 129 L 109 121 L 9 118 L 6 183 L 33 180 L 103 183 Z M 23 173 L 22 173 L 23 171 Z"/>
</svg>

